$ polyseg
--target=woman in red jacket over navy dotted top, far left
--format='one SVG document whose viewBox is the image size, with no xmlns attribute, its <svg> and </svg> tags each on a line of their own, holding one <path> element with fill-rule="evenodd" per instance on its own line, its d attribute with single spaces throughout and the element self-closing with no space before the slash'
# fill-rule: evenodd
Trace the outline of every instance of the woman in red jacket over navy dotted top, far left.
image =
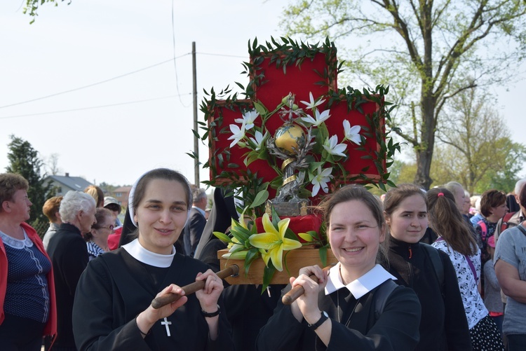
<svg viewBox="0 0 526 351">
<path fill-rule="evenodd" d="M 36 231 L 25 221 L 32 205 L 27 180 L 0 174 L 0 346 L 40 350 L 55 335 L 53 270 Z"/>
</svg>

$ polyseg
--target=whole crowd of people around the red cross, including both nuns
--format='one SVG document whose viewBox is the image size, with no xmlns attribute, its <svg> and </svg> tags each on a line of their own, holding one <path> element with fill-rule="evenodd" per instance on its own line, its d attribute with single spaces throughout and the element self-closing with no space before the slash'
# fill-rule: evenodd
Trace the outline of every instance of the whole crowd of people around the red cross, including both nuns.
<svg viewBox="0 0 526 351">
<path fill-rule="evenodd" d="M 216 274 L 225 244 L 212 233 L 238 219 L 220 188 L 207 211 L 203 189 L 151 170 L 123 223 L 97 186 L 69 191 L 43 205 L 41 240 L 26 223 L 30 184 L 0 174 L 0 348 L 526 350 L 525 184 L 478 198 L 454 181 L 382 199 L 338 188 L 316 207 L 337 263 L 260 294 Z"/>
</svg>

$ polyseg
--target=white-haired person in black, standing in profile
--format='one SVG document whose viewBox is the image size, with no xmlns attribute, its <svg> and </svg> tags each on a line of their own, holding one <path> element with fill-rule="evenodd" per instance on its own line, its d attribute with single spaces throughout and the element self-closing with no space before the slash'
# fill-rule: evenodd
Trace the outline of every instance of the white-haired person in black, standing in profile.
<svg viewBox="0 0 526 351">
<path fill-rule="evenodd" d="M 72 328 L 73 299 L 76 284 L 88 266 L 88 249 L 83 235 L 95 220 L 95 200 L 81 191 L 68 191 L 60 202 L 62 224 L 51 238 L 48 254 L 55 271 L 58 336 L 53 351 L 75 350 Z"/>
</svg>

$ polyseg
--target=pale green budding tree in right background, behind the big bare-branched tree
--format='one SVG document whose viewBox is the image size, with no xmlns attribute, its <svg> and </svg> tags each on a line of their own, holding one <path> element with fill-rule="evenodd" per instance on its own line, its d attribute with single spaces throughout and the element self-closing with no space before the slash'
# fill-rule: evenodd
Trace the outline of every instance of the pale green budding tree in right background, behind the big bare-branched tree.
<svg viewBox="0 0 526 351">
<path fill-rule="evenodd" d="M 438 181 L 433 184 L 454 180 L 470 193 L 482 193 L 515 183 L 525 146 L 511 141 L 510 130 L 492 106 L 487 92 L 478 94 L 475 88 L 452 97 L 444 112 L 447 118 L 436 128 L 440 146 L 431 167 Z"/>
</svg>

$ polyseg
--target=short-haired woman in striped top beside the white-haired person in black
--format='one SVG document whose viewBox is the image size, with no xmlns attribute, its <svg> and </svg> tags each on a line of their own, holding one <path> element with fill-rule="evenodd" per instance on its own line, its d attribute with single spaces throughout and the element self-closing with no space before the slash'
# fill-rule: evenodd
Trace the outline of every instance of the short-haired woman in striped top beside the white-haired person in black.
<svg viewBox="0 0 526 351">
<path fill-rule="evenodd" d="M 108 236 L 113 233 L 115 219 L 112 212 L 104 207 L 99 207 L 95 211 L 97 223 L 91 226 L 90 233 L 84 235 L 90 261 L 104 252 L 109 252 Z"/>
</svg>

